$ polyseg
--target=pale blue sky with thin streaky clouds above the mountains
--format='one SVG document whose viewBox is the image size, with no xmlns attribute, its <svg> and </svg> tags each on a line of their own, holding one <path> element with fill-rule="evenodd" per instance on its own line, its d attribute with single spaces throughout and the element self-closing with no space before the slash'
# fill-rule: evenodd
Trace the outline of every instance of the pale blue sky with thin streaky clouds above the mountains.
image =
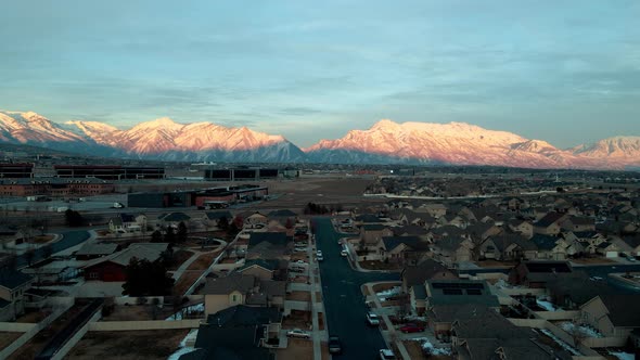
<svg viewBox="0 0 640 360">
<path fill-rule="evenodd" d="M 3 1 L 0 108 L 168 116 L 299 146 L 463 121 L 559 147 L 640 136 L 640 1 Z"/>
</svg>

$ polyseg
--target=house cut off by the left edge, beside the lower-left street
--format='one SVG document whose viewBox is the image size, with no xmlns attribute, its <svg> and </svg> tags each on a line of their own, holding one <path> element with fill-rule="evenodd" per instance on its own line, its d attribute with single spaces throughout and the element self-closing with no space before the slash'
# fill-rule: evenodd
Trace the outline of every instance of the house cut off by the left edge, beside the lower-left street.
<svg viewBox="0 0 640 360">
<path fill-rule="evenodd" d="M 21 271 L 0 270 L 0 321 L 15 320 L 25 312 L 25 292 L 34 280 Z"/>
</svg>

